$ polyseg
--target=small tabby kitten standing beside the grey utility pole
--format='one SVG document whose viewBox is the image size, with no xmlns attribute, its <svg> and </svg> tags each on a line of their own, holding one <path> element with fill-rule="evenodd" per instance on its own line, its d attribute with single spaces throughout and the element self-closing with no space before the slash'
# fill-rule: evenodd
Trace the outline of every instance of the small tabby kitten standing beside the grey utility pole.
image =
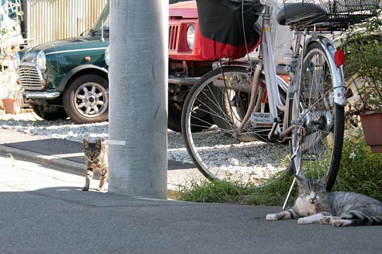
<svg viewBox="0 0 382 254">
<path fill-rule="evenodd" d="M 96 169 L 101 170 L 100 186 L 97 191 L 103 191 L 103 186 L 108 180 L 109 167 L 108 167 L 108 144 L 98 139 L 95 143 L 88 142 L 83 139 L 82 143 L 83 153 L 86 155 L 86 183 L 82 191 L 88 191 L 93 173 Z"/>
</svg>

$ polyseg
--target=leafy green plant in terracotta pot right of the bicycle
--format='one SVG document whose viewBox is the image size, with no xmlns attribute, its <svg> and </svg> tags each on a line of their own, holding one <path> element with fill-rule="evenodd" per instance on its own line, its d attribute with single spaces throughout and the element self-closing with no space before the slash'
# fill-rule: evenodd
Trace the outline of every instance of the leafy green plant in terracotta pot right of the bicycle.
<svg viewBox="0 0 382 254">
<path fill-rule="evenodd" d="M 347 76 L 357 97 L 349 105 L 347 118 L 360 117 L 366 144 L 372 152 L 382 152 L 381 28 L 382 20 L 378 18 L 354 26 L 347 47 Z"/>
</svg>

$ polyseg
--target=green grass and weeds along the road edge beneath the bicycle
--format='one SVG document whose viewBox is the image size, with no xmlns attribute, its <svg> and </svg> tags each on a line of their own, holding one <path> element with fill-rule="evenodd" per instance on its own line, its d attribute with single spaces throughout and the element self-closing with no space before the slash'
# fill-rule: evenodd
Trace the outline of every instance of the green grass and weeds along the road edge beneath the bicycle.
<svg viewBox="0 0 382 254">
<path fill-rule="evenodd" d="M 382 154 L 373 154 L 360 134 L 345 138 L 339 171 L 343 191 L 368 195 L 382 201 Z M 274 181 L 274 179 L 277 179 Z M 188 181 L 180 188 L 180 199 L 192 202 L 217 202 L 242 205 L 282 205 L 293 177 L 276 175 L 267 186 L 231 184 L 226 181 Z M 339 191 L 336 183 L 334 191 Z M 294 188 L 289 205 L 297 196 Z"/>
</svg>

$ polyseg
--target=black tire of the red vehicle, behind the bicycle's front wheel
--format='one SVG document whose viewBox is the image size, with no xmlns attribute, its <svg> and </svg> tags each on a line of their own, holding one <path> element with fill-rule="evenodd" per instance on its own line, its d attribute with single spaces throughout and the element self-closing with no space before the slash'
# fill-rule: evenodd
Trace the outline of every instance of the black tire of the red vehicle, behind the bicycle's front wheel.
<svg viewBox="0 0 382 254">
<path fill-rule="evenodd" d="M 168 128 L 172 131 L 182 132 L 182 109 L 183 102 L 168 100 Z M 192 119 L 192 131 L 202 131 L 209 128 L 213 121 L 209 114 L 199 112 L 199 119 Z M 210 123 L 210 124 L 207 124 Z M 204 126 L 207 124 L 206 126 Z"/>
</svg>

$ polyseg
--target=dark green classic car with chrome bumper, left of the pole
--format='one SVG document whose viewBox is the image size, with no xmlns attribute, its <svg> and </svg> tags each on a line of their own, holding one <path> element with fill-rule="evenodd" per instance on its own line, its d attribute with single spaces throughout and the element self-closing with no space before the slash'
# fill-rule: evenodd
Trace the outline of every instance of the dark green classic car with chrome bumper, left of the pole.
<svg viewBox="0 0 382 254">
<path fill-rule="evenodd" d="M 24 102 L 43 119 L 108 120 L 109 3 L 83 36 L 18 52 Z"/>
</svg>

